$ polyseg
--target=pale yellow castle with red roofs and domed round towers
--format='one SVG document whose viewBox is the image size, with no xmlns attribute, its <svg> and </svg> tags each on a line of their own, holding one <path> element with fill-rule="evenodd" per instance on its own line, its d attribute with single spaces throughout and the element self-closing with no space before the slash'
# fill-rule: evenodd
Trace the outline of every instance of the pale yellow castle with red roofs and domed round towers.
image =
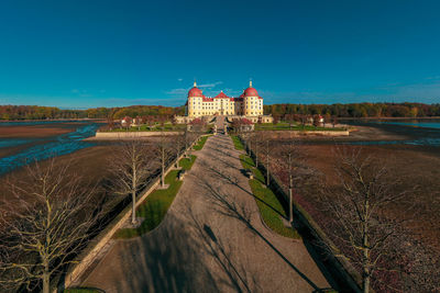
<svg viewBox="0 0 440 293">
<path fill-rule="evenodd" d="M 263 98 L 252 87 L 252 81 L 238 98 L 228 97 L 223 91 L 213 98 L 205 97 L 202 91 L 197 88 L 197 83 L 194 82 L 194 87 L 188 92 L 185 114 L 188 117 L 212 115 L 257 117 L 263 115 Z"/>
</svg>

